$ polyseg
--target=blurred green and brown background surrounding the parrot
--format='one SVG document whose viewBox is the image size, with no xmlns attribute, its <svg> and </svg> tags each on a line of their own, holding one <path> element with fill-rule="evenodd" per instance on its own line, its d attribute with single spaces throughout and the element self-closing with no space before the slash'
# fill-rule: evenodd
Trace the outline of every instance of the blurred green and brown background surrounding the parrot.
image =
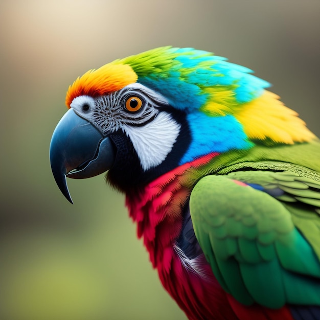
<svg viewBox="0 0 320 320">
<path fill-rule="evenodd" d="M 320 1 L 0 2 L 1 320 L 185 319 L 103 176 L 55 185 L 51 134 L 77 76 L 161 45 L 245 65 L 319 130 Z"/>
</svg>

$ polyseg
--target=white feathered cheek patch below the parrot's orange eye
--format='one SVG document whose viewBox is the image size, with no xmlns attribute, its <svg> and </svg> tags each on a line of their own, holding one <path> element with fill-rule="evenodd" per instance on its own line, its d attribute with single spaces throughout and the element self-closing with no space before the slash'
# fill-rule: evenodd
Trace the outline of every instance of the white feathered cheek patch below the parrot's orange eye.
<svg viewBox="0 0 320 320">
<path fill-rule="evenodd" d="M 124 126 L 139 156 L 142 168 L 148 170 L 161 164 L 177 140 L 180 125 L 169 113 L 159 112 L 153 121 L 144 126 Z"/>
</svg>

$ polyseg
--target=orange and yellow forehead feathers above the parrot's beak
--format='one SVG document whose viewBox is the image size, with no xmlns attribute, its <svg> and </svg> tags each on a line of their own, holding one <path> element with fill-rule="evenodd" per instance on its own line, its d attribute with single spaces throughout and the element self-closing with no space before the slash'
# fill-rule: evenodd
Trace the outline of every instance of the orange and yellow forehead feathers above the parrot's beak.
<svg viewBox="0 0 320 320">
<path fill-rule="evenodd" d="M 111 62 L 99 69 L 89 70 L 69 86 L 65 104 L 70 108 L 72 100 L 81 95 L 97 97 L 120 90 L 124 86 L 134 83 L 138 76 L 128 64 Z"/>
</svg>

